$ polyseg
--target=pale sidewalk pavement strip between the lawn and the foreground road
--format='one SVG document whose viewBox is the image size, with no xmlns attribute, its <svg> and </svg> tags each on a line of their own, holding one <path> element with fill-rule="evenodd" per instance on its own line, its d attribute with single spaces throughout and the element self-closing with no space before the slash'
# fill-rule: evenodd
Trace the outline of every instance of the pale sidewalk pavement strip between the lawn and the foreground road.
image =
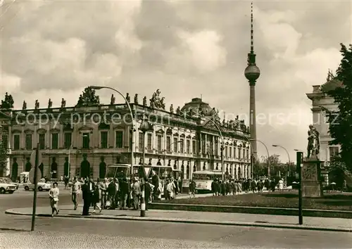
<svg viewBox="0 0 352 249">
<path fill-rule="evenodd" d="M 298 224 L 298 217 L 284 215 L 253 215 L 225 212 L 189 212 L 177 210 L 148 210 L 146 217 L 140 217 L 136 210 L 96 210 L 96 213 L 82 216 L 82 205 L 73 210 L 73 205 L 62 205 L 56 217 L 88 219 L 120 219 L 149 222 L 179 222 L 193 224 L 219 224 L 230 226 L 260 226 L 279 229 L 305 229 L 317 231 L 352 232 L 351 219 L 303 217 L 303 225 Z M 38 207 L 37 216 L 50 217 L 51 208 Z M 6 210 L 8 215 L 32 215 L 32 208 L 14 208 Z M 53 218 L 55 219 L 55 217 Z"/>
</svg>

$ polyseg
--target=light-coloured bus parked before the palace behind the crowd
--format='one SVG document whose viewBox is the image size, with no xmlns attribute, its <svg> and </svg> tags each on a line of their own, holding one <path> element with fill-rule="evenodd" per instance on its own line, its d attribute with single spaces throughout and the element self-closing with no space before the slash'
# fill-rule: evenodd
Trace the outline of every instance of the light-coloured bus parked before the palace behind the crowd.
<svg viewBox="0 0 352 249">
<path fill-rule="evenodd" d="M 215 170 L 196 171 L 192 175 L 192 179 L 196 182 L 197 192 L 210 192 L 214 179 L 221 179 L 221 177 L 222 172 Z"/>
</svg>

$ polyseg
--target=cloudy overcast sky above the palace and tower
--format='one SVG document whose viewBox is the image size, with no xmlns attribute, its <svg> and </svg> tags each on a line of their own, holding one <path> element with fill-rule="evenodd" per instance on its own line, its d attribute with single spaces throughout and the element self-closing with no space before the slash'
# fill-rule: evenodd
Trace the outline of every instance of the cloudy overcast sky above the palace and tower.
<svg viewBox="0 0 352 249">
<path fill-rule="evenodd" d="M 351 43 L 349 1 L 254 1 L 257 137 L 287 161 L 305 149 L 311 102 Z M 8 1 L 1 10 L 1 89 L 15 108 L 67 106 L 90 84 L 149 99 L 167 109 L 203 96 L 226 115 L 249 113 L 244 77 L 250 49 L 249 1 Z M 110 102 L 110 91 L 99 92 Z M 132 97 L 133 98 L 133 97 Z M 116 98 L 117 102 L 122 101 Z M 258 154 L 265 148 L 258 143 Z"/>
</svg>

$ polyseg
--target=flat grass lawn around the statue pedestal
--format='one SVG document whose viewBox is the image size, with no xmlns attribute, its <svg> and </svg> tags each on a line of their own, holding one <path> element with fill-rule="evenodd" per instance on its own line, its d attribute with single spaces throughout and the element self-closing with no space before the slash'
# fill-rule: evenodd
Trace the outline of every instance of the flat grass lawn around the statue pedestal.
<svg viewBox="0 0 352 249">
<path fill-rule="evenodd" d="M 298 191 L 249 193 L 239 196 L 208 196 L 162 201 L 194 205 L 228 205 L 265 208 L 298 208 Z M 352 211 L 352 195 L 325 193 L 321 198 L 303 198 L 303 209 Z"/>
</svg>

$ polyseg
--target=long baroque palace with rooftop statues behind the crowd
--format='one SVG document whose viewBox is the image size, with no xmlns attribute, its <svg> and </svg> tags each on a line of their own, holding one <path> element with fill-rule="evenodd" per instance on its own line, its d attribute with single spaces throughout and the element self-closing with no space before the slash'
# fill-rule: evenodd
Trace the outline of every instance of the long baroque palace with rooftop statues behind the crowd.
<svg viewBox="0 0 352 249">
<path fill-rule="evenodd" d="M 61 108 L 52 108 L 49 100 L 48 108 L 39 108 L 36 101 L 29 110 L 23 102 L 23 110 L 3 112 L 0 121 L 3 142 L 11 149 L 11 178 L 30 171 L 30 155 L 37 144 L 42 153 L 39 169 L 49 179 L 67 176 L 69 171 L 71 177 L 103 178 L 107 165 L 142 162 L 143 146 L 144 163 L 171 165 L 183 179 L 190 179 L 195 171 L 221 171 L 221 152 L 227 178 L 251 177 L 249 128 L 244 120 L 220 122 L 218 111 L 201 98 L 193 98 L 175 112 L 172 105 L 165 110 L 160 91 L 153 94 L 149 106 L 146 97 L 140 104 L 137 94 L 134 101 L 128 94 L 126 99 L 136 120 L 134 129 L 127 104 L 116 104 L 113 96 L 110 105 L 66 107 L 63 100 Z M 144 116 L 153 125 L 143 145 L 139 125 Z"/>
</svg>

